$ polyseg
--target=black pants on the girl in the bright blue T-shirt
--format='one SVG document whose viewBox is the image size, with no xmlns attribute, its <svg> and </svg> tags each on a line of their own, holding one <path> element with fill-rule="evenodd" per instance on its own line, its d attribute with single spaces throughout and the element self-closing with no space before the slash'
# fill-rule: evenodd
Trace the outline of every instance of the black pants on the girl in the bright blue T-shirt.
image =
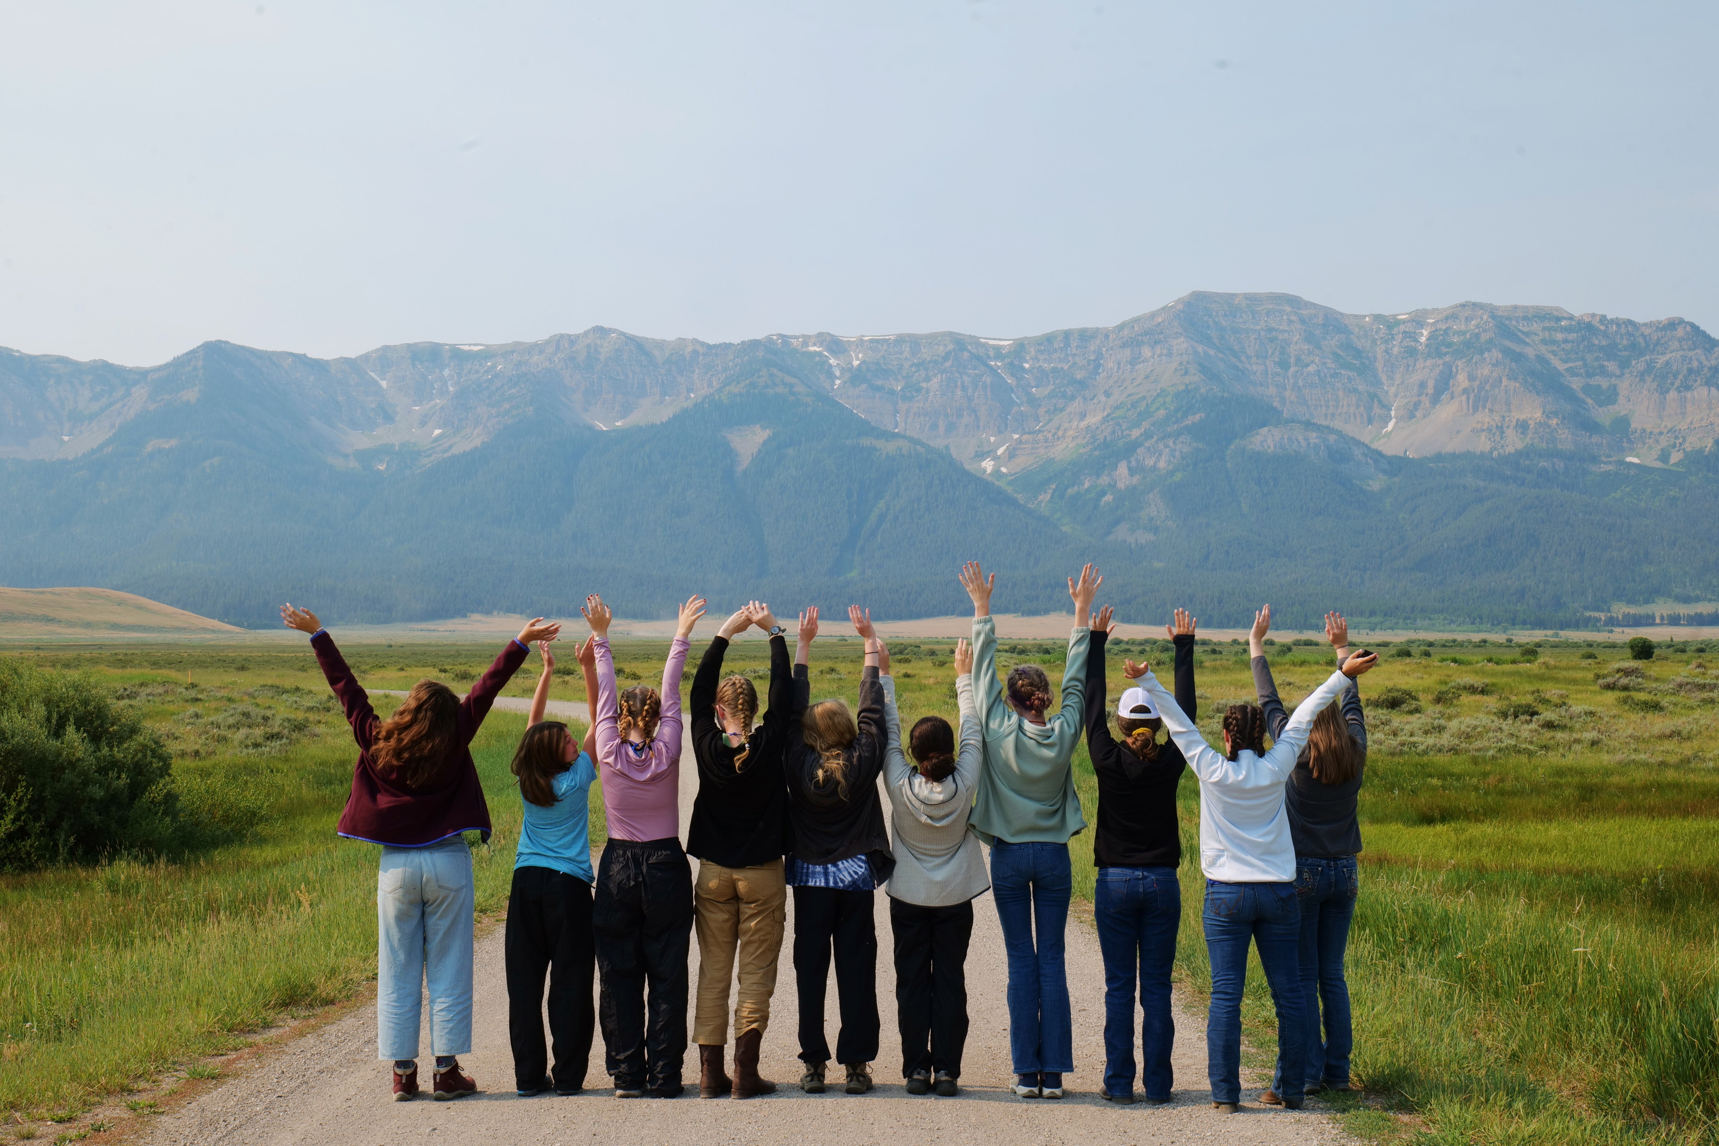
<svg viewBox="0 0 1719 1146">
<path fill-rule="evenodd" d="M 514 1081 L 535 1088 L 547 1074 L 543 976 L 548 974 L 548 1033 L 555 1043 L 555 1086 L 579 1089 L 591 1065 L 591 885 L 552 868 L 514 868 L 507 893 L 507 1036 Z"/>
</svg>

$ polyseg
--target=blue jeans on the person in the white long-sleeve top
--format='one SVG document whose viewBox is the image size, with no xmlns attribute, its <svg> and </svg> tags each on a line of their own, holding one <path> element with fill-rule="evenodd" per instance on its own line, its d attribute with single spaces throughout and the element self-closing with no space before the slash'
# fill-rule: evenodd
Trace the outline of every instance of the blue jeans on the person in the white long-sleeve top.
<svg viewBox="0 0 1719 1146">
<path fill-rule="evenodd" d="M 1241 990 L 1248 983 L 1248 943 L 1260 948 L 1265 981 L 1277 1007 L 1277 1058 L 1282 1098 L 1300 1101 L 1306 1088 L 1306 1029 L 1301 1003 L 1301 911 L 1293 883 L 1205 881 L 1205 947 L 1212 959 L 1212 1010 L 1205 1022 L 1212 1101 L 1241 1101 Z"/>
</svg>

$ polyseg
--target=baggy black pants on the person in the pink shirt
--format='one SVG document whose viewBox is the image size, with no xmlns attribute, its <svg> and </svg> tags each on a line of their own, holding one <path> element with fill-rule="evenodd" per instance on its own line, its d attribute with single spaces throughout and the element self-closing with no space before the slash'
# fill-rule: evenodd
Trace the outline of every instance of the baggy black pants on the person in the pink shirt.
<svg viewBox="0 0 1719 1146">
<path fill-rule="evenodd" d="M 686 952 L 693 935 L 693 868 L 681 840 L 603 845 L 591 931 L 602 971 L 605 1065 L 615 1088 L 677 1084 L 686 1058 Z"/>
</svg>

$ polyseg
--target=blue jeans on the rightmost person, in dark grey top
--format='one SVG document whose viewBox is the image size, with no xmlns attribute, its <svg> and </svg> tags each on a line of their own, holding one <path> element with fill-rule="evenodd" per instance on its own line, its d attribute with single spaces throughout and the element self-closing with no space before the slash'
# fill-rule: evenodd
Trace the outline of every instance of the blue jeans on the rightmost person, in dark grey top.
<svg viewBox="0 0 1719 1146">
<path fill-rule="evenodd" d="M 1306 1086 L 1348 1086 L 1355 1029 L 1349 1021 L 1349 983 L 1343 954 L 1361 876 L 1355 856 L 1294 861 L 1294 893 L 1301 904 L 1301 1007 L 1306 1014 Z M 1325 1003 L 1325 1038 L 1320 1038 L 1320 1002 Z M 1284 1058 L 1277 1057 L 1282 1082 Z"/>
</svg>

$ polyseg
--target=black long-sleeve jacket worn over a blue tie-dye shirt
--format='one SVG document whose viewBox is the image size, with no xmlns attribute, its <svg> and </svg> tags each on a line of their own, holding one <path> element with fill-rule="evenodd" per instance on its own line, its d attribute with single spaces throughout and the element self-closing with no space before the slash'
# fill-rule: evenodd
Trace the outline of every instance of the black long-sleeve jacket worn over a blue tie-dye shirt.
<svg viewBox="0 0 1719 1146">
<path fill-rule="evenodd" d="M 794 667 L 794 677 L 803 679 L 804 668 Z M 806 686 L 810 689 L 810 684 Z M 878 797 L 877 778 L 884 771 L 884 749 L 889 746 L 889 728 L 884 723 L 884 686 L 877 665 L 866 665 L 860 675 L 860 735 L 842 753 L 847 759 L 844 773 L 847 794 L 834 777 L 818 782 L 818 754 L 798 739 L 787 749 L 787 820 L 791 825 L 791 852 L 808 864 L 834 864 L 839 859 L 865 856 L 878 880 L 887 880 L 896 869 L 889 850 L 889 832 L 884 828 L 884 801 Z"/>
</svg>

